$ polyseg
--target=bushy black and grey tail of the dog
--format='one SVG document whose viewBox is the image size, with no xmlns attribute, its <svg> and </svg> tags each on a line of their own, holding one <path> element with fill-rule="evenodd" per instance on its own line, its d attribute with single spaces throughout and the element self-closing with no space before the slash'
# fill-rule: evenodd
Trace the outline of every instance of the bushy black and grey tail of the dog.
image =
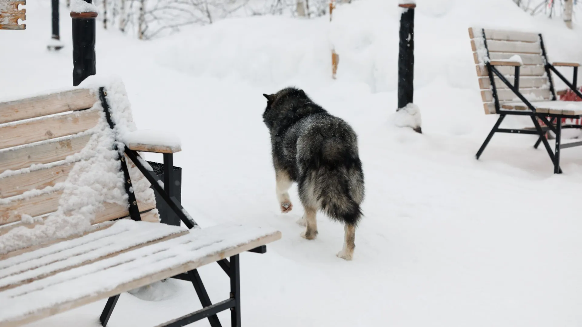
<svg viewBox="0 0 582 327">
<path fill-rule="evenodd" d="M 333 137 L 313 149 L 308 187 L 317 198 L 318 207 L 329 217 L 356 226 L 363 215 L 364 173 L 357 145 Z"/>
</svg>

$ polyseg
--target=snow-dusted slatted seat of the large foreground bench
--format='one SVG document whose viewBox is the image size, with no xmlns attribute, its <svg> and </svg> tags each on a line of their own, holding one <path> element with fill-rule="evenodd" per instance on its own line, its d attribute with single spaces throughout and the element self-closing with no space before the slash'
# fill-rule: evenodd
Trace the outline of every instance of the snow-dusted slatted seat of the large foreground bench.
<svg viewBox="0 0 582 327">
<path fill-rule="evenodd" d="M 281 232 L 250 226 L 187 231 L 118 221 L 79 239 L 0 261 L 0 326 L 36 321 L 280 238 Z"/>
</svg>

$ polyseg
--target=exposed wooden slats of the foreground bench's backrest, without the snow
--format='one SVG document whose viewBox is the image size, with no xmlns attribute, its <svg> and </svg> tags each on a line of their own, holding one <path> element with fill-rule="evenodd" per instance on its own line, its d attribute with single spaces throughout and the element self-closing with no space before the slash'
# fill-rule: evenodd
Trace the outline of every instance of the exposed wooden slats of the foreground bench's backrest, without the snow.
<svg viewBox="0 0 582 327">
<path fill-rule="evenodd" d="M 96 92 L 86 88 L 0 102 L 0 237 L 19 226 L 42 224 L 40 218 L 59 208 L 62 182 L 77 162 L 90 159 L 79 153 L 91 140 L 88 130 L 103 119 L 100 104 Z M 155 201 L 138 206 L 148 211 Z M 93 224 L 127 215 L 125 205 L 104 202 Z M 157 214 L 142 220 L 157 221 Z"/>
</svg>

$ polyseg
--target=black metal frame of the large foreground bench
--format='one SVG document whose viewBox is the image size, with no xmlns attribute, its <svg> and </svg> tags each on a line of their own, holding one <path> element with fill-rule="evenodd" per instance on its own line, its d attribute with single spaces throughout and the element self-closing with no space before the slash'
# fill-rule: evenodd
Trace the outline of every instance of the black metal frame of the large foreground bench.
<svg viewBox="0 0 582 327">
<path fill-rule="evenodd" d="M 105 118 L 109 123 L 111 129 L 114 129 L 115 123 L 111 120 L 111 112 L 109 111 L 109 104 L 107 102 L 107 91 L 104 87 L 99 89 L 99 98 L 101 101 L 101 105 L 105 112 Z M 125 161 L 125 156 L 122 154 L 121 151 L 115 145 L 116 150 L 119 152 L 118 160 L 121 163 L 121 170 L 125 177 L 125 190 L 127 195 L 129 196 L 129 215 L 134 221 L 141 221 L 140 214 L 144 212 L 140 212 L 137 208 L 137 202 L 135 195 L 132 191 L 130 191 L 131 186 L 131 179 L 129 177 L 129 169 L 127 169 L 127 163 Z M 130 150 L 127 145 L 123 150 L 127 157 L 137 166 L 137 168 L 143 173 L 145 178 L 151 183 L 151 186 L 159 193 L 162 197 L 162 200 L 168 204 L 168 206 L 175 212 L 176 215 L 180 218 L 180 220 L 186 225 L 188 229 L 192 229 L 198 226 L 198 224 L 186 213 L 180 202 L 176 199 L 175 196 L 171 193 L 171 183 L 173 183 L 174 179 L 172 177 L 173 171 L 173 155 L 172 154 L 164 154 L 164 188 L 162 188 L 159 184 L 161 179 L 151 170 L 148 170 L 143 165 L 145 162 L 137 151 Z M 249 250 L 249 252 L 253 253 L 266 253 L 267 246 L 260 246 Z M 226 275 L 230 278 L 230 296 L 227 300 L 221 301 L 219 303 L 214 303 L 210 301 L 210 297 L 206 292 L 206 288 L 204 287 L 204 283 L 198 274 L 197 269 L 193 269 L 186 273 L 180 273 L 180 275 L 173 276 L 172 278 L 187 280 L 192 283 L 194 289 L 196 290 L 196 294 L 198 295 L 198 299 L 202 304 L 203 308 L 201 310 L 192 312 L 190 314 L 184 315 L 182 317 L 173 319 L 172 321 L 166 322 L 164 325 L 166 327 L 181 327 L 192 324 L 198 320 L 208 318 L 210 325 L 212 327 L 222 327 L 221 322 L 218 319 L 218 312 L 222 312 L 225 310 L 230 309 L 230 324 L 232 327 L 240 327 L 240 265 L 239 265 L 239 255 L 233 255 L 229 258 L 230 260 L 219 260 L 217 261 L 218 265 L 222 268 L 222 270 L 226 273 Z M 107 326 L 107 322 L 109 318 L 111 318 L 111 314 L 113 309 L 115 309 L 115 305 L 119 300 L 120 294 L 115 296 L 109 297 L 107 300 L 107 304 L 105 304 L 105 308 L 101 312 L 100 322 L 102 326 Z"/>
</svg>

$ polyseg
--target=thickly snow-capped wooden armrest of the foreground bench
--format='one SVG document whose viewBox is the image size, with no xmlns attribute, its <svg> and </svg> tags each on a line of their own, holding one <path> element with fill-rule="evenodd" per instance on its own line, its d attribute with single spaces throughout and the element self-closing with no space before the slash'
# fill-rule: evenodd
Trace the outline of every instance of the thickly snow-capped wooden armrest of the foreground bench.
<svg viewBox="0 0 582 327">
<path fill-rule="evenodd" d="M 123 136 L 123 143 L 130 150 L 155 152 L 155 153 L 175 153 L 182 151 L 180 138 L 171 133 L 156 130 L 136 130 Z"/>
</svg>

